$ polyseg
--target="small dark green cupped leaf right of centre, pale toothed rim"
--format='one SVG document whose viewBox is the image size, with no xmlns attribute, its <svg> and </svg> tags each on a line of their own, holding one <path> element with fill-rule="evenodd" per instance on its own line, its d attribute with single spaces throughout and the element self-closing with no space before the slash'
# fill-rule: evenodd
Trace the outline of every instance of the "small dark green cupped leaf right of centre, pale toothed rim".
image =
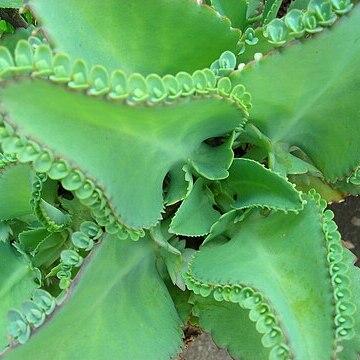
<svg viewBox="0 0 360 360">
<path fill-rule="evenodd" d="M 300 193 L 290 182 L 258 162 L 244 158 L 234 159 L 229 177 L 220 182 L 216 201 L 235 209 L 298 211 L 303 206 Z"/>
</svg>

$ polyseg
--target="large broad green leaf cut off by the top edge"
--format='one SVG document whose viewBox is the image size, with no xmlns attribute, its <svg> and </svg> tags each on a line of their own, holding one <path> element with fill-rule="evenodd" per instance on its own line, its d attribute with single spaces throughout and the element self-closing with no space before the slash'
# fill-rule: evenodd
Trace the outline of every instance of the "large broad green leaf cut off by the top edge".
<svg viewBox="0 0 360 360">
<path fill-rule="evenodd" d="M 90 65 L 165 75 L 207 66 L 236 52 L 240 32 L 194 0 L 31 0 L 54 46 Z M 99 17 L 101 13 L 101 17 Z M 76 36 L 74 37 L 74 35 Z"/>
</svg>

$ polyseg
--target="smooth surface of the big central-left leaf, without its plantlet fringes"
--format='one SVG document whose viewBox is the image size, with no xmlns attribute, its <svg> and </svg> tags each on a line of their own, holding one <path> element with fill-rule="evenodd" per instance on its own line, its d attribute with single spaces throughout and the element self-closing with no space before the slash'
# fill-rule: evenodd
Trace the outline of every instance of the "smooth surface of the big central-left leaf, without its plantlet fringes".
<svg viewBox="0 0 360 360">
<path fill-rule="evenodd" d="M 232 150 L 203 141 L 244 122 L 239 108 L 222 99 L 127 106 L 41 80 L 9 84 L 2 103 L 21 135 L 36 139 L 88 174 L 103 189 L 120 222 L 133 228 L 149 227 L 160 219 L 163 181 L 179 162 L 192 163 L 205 177 L 227 176 Z"/>
</svg>

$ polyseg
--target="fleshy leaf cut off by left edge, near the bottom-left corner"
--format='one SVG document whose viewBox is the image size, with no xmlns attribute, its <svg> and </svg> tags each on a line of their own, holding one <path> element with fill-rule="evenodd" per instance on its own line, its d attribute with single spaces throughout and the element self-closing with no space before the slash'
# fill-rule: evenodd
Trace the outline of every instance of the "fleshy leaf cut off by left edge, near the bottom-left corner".
<svg viewBox="0 0 360 360">
<path fill-rule="evenodd" d="M 8 345 L 7 312 L 30 298 L 38 287 L 36 271 L 10 243 L 0 242 L 0 352 Z"/>
</svg>

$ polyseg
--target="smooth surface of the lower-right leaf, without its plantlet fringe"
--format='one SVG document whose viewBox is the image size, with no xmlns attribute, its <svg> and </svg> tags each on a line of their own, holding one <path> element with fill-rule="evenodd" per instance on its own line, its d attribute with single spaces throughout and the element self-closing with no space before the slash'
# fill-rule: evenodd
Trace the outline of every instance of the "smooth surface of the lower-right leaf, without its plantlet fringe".
<svg viewBox="0 0 360 360">
<path fill-rule="evenodd" d="M 229 242 L 203 247 L 190 274 L 205 284 L 257 289 L 277 314 L 295 358 L 328 360 L 335 332 L 326 239 L 319 208 L 306 200 L 298 215 L 253 211 Z"/>
</svg>

